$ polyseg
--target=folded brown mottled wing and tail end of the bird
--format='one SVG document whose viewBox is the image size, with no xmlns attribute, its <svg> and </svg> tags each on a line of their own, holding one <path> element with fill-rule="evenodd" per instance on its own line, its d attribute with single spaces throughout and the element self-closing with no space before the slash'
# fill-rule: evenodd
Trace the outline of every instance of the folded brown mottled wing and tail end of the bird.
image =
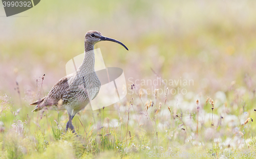
<svg viewBox="0 0 256 159">
<path fill-rule="evenodd" d="M 38 104 L 33 112 L 41 110 L 43 107 L 57 105 L 58 101 L 62 99 L 63 95 L 67 93 L 67 89 L 69 88 L 68 77 L 65 76 L 61 78 L 51 89 L 49 94 L 42 98 L 39 101 L 36 101 L 32 104 Z M 62 101 L 62 103 L 65 101 Z"/>
</svg>

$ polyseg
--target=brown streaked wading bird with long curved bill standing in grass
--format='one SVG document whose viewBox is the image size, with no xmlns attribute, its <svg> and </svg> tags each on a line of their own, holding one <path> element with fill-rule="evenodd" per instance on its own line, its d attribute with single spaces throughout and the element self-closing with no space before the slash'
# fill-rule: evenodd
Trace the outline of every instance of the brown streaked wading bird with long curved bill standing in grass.
<svg viewBox="0 0 256 159">
<path fill-rule="evenodd" d="M 31 103 L 36 105 L 32 112 L 40 111 L 44 108 L 49 110 L 67 110 L 69 121 L 66 131 L 70 128 L 75 133 L 72 119 L 83 110 L 90 100 L 93 100 L 100 90 L 100 80 L 95 72 L 94 45 L 100 41 L 112 41 L 122 45 L 129 50 L 123 43 L 112 38 L 104 37 L 98 31 L 89 31 L 84 37 L 84 58 L 79 68 L 62 77 L 50 90 L 48 95 Z"/>
</svg>

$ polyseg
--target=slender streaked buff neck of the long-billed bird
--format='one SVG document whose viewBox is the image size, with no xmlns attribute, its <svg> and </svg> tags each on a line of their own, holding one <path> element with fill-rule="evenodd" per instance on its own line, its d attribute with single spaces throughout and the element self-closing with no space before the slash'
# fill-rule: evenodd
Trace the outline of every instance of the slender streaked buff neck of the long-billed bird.
<svg viewBox="0 0 256 159">
<path fill-rule="evenodd" d="M 83 73 L 93 73 L 95 64 L 95 56 L 94 56 L 94 44 L 84 42 L 84 58 L 82 61 L 82 65 L 79 67 L 78 71 Z"/>
</svg>

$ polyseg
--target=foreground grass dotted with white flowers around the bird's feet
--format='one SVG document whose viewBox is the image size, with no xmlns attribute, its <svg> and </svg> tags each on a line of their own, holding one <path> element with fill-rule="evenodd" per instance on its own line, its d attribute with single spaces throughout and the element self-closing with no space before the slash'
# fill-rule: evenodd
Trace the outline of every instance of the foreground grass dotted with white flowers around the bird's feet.
<svg viewBox="0 0 256 159">
<path fill-rule="evenodd" d="M 136 89 L 133 86 L 133 91 Z M 236 91 L 226 94 L 229 96 Z M 147 101 L 149 98 L 143 94 L 132 94 L 131 101 L 114 104 L 116 110 L 106 107 L 78 114 L 74 118 L 79 136 L 76 137 L 70 130 L 65 132 L 66 113 L 45 110 L 44 113 L 28 114 L 26 112 L 30 108 L 23 107 L 27 111 L 16 114 L 11 112 L 11 102 L 5 96 L 2 97 L 4 110 L 1 118 L 5 120 L 2 120 L 1 128 L 5 129 L 1 133 L 0 154 L 2 158 L 104 158 L 111 152 L 114 158 L 140 158 L 150 157 L 153 153 L 220 156 L 222 153 L 242 155 L 254 152 L 255 127 L 252 120 L 255 115 L 252 105 L 227 107 L 220 99 L 201 98 L 203 100 L 194 101 L 190 106 L 193 109 L 188 111 L 172 104 L 165 95 L 154 96 Z M 153 100 L 159 103 L 152 104 Z M 165 103 L 161 108 L 160 102 Z M 183 99 L 181 103 L 186 102 L 187 99 Z M 12 123 L 11 127 L 8 123 Z M 251 154 L 247 158 L 254 157 Z"/>
</svg>

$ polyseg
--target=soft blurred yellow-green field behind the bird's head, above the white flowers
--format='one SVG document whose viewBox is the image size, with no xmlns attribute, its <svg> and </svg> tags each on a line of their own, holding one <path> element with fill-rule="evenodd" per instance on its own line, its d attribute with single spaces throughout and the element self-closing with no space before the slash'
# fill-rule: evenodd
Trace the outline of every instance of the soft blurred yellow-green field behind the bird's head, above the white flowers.
<svg viewBox="0 0 256 159">
<path fill-rule="evenodd" d="M 211 95 L 232 81 L 255 83 L 254 1 L 41 1 L 12 17 L 0 7 L 0 91 L 15 81 L 35 91 L 33 76 L 46 74 L 46 91 L 66 75 L 65 64 L 83 52 L 84 35 L 97 30 L 123 42 L 97 43 L 107 67 L 125 77 L 192 79 L 188 91 Z M 131 83 L 127 83 L 130 85 Z"/>
</svg>

